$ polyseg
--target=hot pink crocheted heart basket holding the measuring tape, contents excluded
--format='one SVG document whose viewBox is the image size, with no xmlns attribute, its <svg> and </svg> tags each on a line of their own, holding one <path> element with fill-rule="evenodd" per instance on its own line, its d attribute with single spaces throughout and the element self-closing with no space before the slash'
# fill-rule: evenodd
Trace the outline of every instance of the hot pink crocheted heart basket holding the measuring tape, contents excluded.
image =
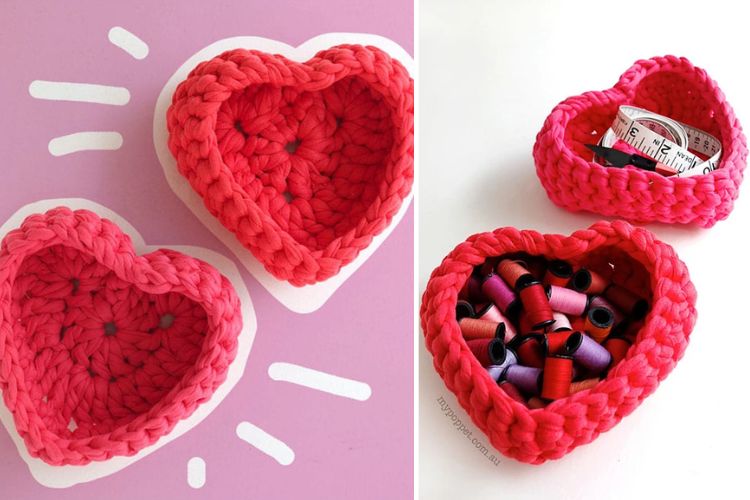
<svg viewBox="0 0 750 500">
<path fill-rule="evenodd" d="M 710 133 L 722 144 L 718 168 L 678 178 L 593 162 L 585 144 L 599 141 L 621 105 Z M 564 100 L 547 117 L 534 145 L 537 175 L 555 204 L 642 223 L 711 227 L 726 219 L 739 196 L 746 159 L 742 128 L 716 82 L 674 56 L 638 61 L 613 88 Z"/>
</svg>

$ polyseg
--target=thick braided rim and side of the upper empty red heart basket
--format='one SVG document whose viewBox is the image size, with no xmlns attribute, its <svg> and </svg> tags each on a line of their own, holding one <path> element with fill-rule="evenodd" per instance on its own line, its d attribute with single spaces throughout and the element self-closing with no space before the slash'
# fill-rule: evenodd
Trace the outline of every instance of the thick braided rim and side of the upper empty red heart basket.
<svg viewBox="0 0 750 500">
<path fill-rule="evenodd" d="M 231 78 L 205 84 L 203 79 L 207 75 L 220 71 L 216 69 L 217 64 L 229 64 L 230 61 L 234 65 Z M 243 63 L 247 63 L 250 69 L 241 71 Z M 272 70 L 261 73 L 257 69 L 259 63 Z M 279 76 L 286 69 L 288 73 Z M 229 70 L 225 68 L 223 71 Z M 367 90 L 377 95 L 387 107 L 393 143 L 382 160 L 382 177 L 373 184 L 377 186 L 377 195 L 369 204 L 363 205 L 358 218 L 348 221 L 350 226 L 343 234 L 335 232 L 331 241 L 316 249 L 298 241 L 248 195 L 218 149 L 215 127 L 221 104 L 251 86 L 294 86 L 299 90 L 319 92 L 350 77 L 364 82 Z M 283 81 L 273 82 L 274 78 Z M 304 62 L 259 50 L 234 49 L 198 64 L 178 85 L 167 111 L 169 149 L 177 160 L 180 173 L 203 199 L 209 212 L 234 233 L 268 272 L 294 286 L 311 285 L 337 274 L 341 267 L 354 260 L 372 238 L 391 223 L 409 195 L 414 172 L 413 93 L 414 82 L 408 71 L 398 60 L 377 47 L 336 45 L 319 51 Z M 205 113 L 200 125 L 186 127 L 183 115 L 188 101 L 204 99 L 207 94 L 215 101 L 212 102 L 215 110 Z M 186 135 L 189 138 L 183 137 Z M 201 147 L 188 147 L 186 141 L 199 141 Z M 216 172 L 222 189 L 231 190 L 233 213 L 222 208 L 221 201 L 209 193 L 202 172 L 195 166 L 197 163 L 210 165 L 208 169 Z M 328 228 L 335 229 L 334 226 Z"/>
</svg>

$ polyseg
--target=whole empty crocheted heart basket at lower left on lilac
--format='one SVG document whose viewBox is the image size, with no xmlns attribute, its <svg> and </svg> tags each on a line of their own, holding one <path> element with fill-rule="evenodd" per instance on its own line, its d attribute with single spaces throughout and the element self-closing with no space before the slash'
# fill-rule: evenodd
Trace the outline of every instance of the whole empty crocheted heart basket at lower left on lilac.
<svg viewBox="0 0 750 500">
<path fill-rule="evenodd" d="M 57 208 L 0 248 L 0 389 L 51 465 L 133 455 L 224 381 L 240 304 L 208 264 L 134 253 L 112 222 Z"/>
</svg>

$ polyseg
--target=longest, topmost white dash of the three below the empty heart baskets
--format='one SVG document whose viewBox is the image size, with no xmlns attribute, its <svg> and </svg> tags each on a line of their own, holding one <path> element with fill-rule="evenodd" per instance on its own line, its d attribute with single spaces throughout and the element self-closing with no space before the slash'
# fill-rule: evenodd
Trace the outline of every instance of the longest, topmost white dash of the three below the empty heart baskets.
<svg viewBox="0 0 750 500">
<path fill-rule="evenodd" d="M 365 401 L 372 395 L 372 389 L 364 382 L 331 375 L 292 363 L 272 363 L 268 367 L 268 376 L 273 380 L 289 382 L 316 391 L 356 399 L 357 401 Z"/>
</svg>

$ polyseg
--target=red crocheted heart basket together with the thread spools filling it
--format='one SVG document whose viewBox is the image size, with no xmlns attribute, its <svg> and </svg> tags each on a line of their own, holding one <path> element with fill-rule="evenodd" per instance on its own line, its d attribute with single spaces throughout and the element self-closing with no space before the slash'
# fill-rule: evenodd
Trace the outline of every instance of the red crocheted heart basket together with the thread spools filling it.
<svg viewBox="0 0 750 500">
<path fill-rule="evenodd" d="M 695 320 L 695 289 L 684 264 L 645 230 L 614 227 L 598 223 L 568 238 L 512 228 L 475 235 L 430 278 L 421 318 L 435 368 L 509 457 L 539 464 L 592 441 L 651 394 L 684 353 Z M 546 285 L 555 323 L 530 322 L 524 292 L 514 309 L 481 284 L 507 279 L 498 271 L 503 262 L 521 264 Z M 572 275 L 555 281 L 560 262 L 570 264 Z M 587 273 L 594 279 L 581 291 L 574 281 Z M 588 297 L 555 302 L 560 288 Z M 601 309 L 610 312 L 606 331 L 588 319 Z M 489 326 L 498 323 L 502 328 Z M 564 370 L 556 364 L 561 360 Z"/>
</svg>

